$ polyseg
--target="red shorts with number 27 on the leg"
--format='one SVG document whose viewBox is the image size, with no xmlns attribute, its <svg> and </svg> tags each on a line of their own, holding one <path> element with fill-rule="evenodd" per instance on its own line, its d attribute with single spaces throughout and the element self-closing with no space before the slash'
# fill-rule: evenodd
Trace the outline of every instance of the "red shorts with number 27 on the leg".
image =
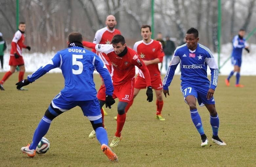
<svg viewBox="0 0 256 167">
<path fill-rule="evenodd" d="M 131 99 L 133 99 L 133 93 L 134 93 L 134 78 L 126 81 L 125 83 L 114 85 L 114 92 L 113 92 L 113 98 L 119 99 L 119 102 L 130 102 Z M 105 101 L 106 94 L 105 94 L 105 85 L 101 86 L 97 98 L 99 100 Z"/>
</svg>

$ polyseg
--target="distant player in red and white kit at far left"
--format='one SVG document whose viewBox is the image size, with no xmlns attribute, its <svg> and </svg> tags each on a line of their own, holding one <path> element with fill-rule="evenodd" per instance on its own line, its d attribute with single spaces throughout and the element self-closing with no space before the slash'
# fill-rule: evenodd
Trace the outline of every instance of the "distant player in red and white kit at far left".
<svg viewBox="0 0 256 167">
<path fill-rule="evenodd" d="M 9 65 L 11 67 L 10 67 L 10 71 L 6 72 L 2 80 L 0 81 L 1 90 L 5 90 L 3 87 L 3 84 L 15 72 L 17 65 L 20 67 L 18 81 L 20 82 L 23 80 L 23 76 L 25 73 L 25 65 L 22 57 L 22 48 L 26 48 L 29 51 L 31 49 L 30 46 L 24 45 L 25 37 L 23 34 L 25 33 L 25 29 L 26 29 L 26 24 L 24 22 L 20 22 L 19 29 L 15 32 L 14 37 L 11 41 L 11 53 L 10 53 L 10 61 L 9 61 Z M 21 87 L 18 90 L 28 90 L 28 89 Z"/>
</svg>

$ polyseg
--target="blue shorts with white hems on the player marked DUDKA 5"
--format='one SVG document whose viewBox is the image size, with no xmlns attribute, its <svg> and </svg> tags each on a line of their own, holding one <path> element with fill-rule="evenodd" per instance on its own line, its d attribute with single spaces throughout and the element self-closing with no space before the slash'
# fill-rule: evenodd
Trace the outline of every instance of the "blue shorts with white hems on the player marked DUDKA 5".
<svg viewBox="0 0 256 167">
<path fill-rule="evenodd" d="M 75 106 L 79 106 L 82 109 L 84 116 L 87 116 L 90 121 L 95 121 L 102 117 L 97 98 L 88 101 L 67 101 L 61 96 L 61 93 L 59 93 L 52 100 L 52 105 L 53 108 L 57 108 L 61 112 L 65 112 L 74 108 Z"/>
</svg>

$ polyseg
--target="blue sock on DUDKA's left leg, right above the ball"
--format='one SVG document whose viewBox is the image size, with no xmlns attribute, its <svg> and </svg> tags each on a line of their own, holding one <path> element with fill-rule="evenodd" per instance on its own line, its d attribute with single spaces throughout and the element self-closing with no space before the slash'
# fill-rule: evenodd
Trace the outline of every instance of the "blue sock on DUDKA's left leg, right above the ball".
<svg viewBox="0 0 256 167">
<path fill-rule="evenodd" d="M 39 122 L 34 136 L 33 136 L 33 140 L 32 143 L 29 147 L 29 149 L 35 149 L 37 144 L 39 143 L 39 141 L 42 139 L 42 137 L 44 137 L 44 135 L 46 135 L 46 133 L 49 130 L 49 127 L 51 125 L 51 122 L 53 120 L 50 120 L 49 118 L 47 118 L 46 116 L 43 116 L 43 118 L 41 119 L 41 121 Z"/>
</svg>

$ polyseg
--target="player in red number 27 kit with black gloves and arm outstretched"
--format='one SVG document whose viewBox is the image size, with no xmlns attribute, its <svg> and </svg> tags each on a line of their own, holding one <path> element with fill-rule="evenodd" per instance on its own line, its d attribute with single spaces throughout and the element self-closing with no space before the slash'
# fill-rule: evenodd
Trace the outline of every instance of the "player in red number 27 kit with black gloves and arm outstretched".
<svg viewBox="0 0 256 167">
<path fill-rule="evenodd" d="M 128 102 L 133 99 L 135 66 L 137 66 L 144 74 L 147 86 L 147 100 L 152 102 L 153 91 L 148 69 L 139 55 L 131 48 L 126 47 L 125 39 L 122 35 L 115 35 L 111 41 L 112 45 L 108 44 L 93 44 L 83 41 L 83 45 L 89 48 L 95 48 L 99 52 L 104 52 L 109 57 L 112 63 L 112 80 L 114 85 L 113 98 L 118 98 L 117 105 L 117 131 L 110 146 L 117 146 L 122 139 L 121 131 L 126 118 L 125 108 Z M 97 97 L 100 107 L 105 103 L 104 87 L 99 89 Z M 94 133 L 94 132 L 91 132 Z M 97 132 L 96 132 L 97 135 Z"/>
</svg>

